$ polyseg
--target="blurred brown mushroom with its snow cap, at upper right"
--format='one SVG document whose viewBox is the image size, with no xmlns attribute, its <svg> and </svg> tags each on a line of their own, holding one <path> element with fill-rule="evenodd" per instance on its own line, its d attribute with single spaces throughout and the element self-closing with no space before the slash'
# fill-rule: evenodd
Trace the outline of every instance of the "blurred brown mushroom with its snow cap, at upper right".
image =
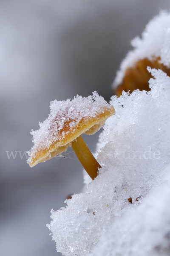
<svg viewBox="0 0 170 256">
<path fill-rule="evenodd" d="M 130 90 L 149 90 L 147 66 L 161 69 L 170 76 L 170 13 L 161 12 L 151 20 L 142 37 L 131 42 L 134 47 L 122 61 L 113 83 L 117 96 Z"/>
</svg>

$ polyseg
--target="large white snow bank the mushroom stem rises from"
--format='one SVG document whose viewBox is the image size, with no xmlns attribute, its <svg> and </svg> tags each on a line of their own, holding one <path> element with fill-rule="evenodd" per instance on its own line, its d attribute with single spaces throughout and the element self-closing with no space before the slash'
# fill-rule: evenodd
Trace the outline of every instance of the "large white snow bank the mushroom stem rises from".
<svg viewBox="0 0 170 256">
<path fill-rule="evenodd" d="M 99 175 L 51 210 L 47 227 L 63 255 L 170 255 L 170 77 L 148 71 L 149 92 L 111 98 L 116 113 L 97 145 Z"/>
</svg>

